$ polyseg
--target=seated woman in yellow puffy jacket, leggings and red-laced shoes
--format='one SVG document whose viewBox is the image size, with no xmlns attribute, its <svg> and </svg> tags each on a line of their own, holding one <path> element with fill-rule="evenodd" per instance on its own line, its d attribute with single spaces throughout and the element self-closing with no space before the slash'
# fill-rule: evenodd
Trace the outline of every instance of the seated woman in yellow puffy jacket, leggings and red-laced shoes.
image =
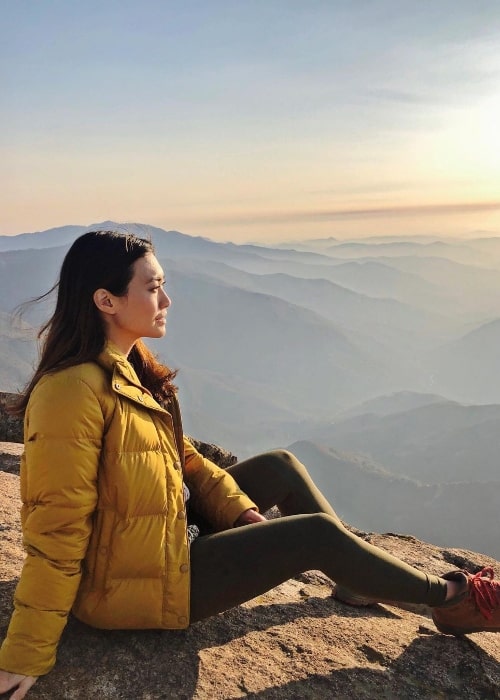
<svg viewBox="0 0 500 700">
<path fill-rule="evenodd" d="M 427 603 L 446 633 L 500 630 L 491 569 L 426 575 L 347 531 L 293 455 L 224 471 L 183 438 L 174 373 L 141 340 L 165 334 L 171 303 L 148 241 L 84 234 L 57 287 L 15 407 L 27 557 L 0 692 L 20 700 L 52 668 L 70 610 L 107 629 L 184 628 L 308 569 L 336 581 L 344 602 Z M 195 537 L 188 505 L 210 534 Z M 285 517 L 266 521 L 273 505 Z"/>
</svg>

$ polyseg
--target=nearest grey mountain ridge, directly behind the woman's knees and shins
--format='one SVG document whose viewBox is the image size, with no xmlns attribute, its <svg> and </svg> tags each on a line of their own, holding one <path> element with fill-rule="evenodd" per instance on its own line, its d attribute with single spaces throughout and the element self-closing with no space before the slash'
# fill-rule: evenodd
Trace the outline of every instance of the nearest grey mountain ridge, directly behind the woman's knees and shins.
<svg viewBox="0 0 500 700">
<path fill-rule="evenodd" d="M 438 545 L 461 542 L 466 549 L 500 554 L 500 481 L 426 484 L 387 472 L 367 457 L 309 441 L 289 449 L 348 523 L 376 532 L 418 532 Z"/>
</svg>

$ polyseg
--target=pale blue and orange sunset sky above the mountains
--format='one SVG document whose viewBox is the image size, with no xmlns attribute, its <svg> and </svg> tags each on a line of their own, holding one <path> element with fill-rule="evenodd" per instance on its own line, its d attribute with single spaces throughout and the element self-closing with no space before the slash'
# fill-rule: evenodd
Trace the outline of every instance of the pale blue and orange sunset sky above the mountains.
<svg viewBox="0 0 500 700">
<path fill-rule="evenodd" d="M 500 235 L 498 0 L 0 13 L 0 235 Z"/>
</svg>

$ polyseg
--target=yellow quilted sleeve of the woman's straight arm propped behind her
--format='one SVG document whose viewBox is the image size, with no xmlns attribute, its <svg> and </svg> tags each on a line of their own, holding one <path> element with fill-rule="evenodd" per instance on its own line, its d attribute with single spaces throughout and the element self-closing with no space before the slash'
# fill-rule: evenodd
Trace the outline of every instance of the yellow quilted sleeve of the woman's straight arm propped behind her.
<svg viewBox="0 0 500 700">
<path fill-rule="evenodd" d="M 97 502 L 103 412 L 75 373 L 44 377 L 30 398 L 21 465 L 27 557 L 0 669 L 47 673 L 76 597 Z"/>
</svg>

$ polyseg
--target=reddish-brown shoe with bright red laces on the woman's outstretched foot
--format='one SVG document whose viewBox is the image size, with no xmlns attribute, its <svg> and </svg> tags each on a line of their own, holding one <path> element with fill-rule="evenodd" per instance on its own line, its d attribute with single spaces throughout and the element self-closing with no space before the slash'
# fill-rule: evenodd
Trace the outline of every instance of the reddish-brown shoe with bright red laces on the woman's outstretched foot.
<svg viewBox="0 0 500 700">
<path fill-rule="evenodd" d="M 467 582 L 467 590 L 445 605 L 434 608 L 432 619 L 444 634 L 500 632 L 500 581 L 494 581 L 491 566 L 477 574 L 452 571 L 443 576 L 448 581 Z"/>
</svg>

